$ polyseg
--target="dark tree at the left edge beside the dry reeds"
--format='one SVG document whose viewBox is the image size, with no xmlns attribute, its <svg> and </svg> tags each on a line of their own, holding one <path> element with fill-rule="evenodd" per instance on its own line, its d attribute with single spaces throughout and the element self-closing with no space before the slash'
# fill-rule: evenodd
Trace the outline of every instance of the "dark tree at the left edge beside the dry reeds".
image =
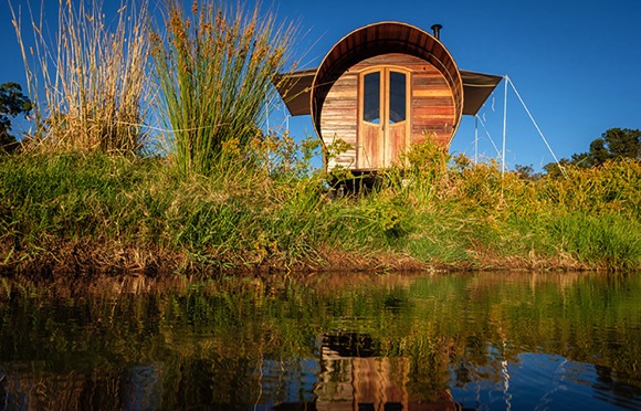
<svg viewBox="0 0 641 411">
<path fill-rule="evenodd" d="M 20 114 L 29 114 L 33 105 L 29 97 L 22 94 L 18 83 L 0 84 L 0 151 L 11 152 L 18 147 L 18 141 L 9 131 L 11 118 Z"/>
</svg>

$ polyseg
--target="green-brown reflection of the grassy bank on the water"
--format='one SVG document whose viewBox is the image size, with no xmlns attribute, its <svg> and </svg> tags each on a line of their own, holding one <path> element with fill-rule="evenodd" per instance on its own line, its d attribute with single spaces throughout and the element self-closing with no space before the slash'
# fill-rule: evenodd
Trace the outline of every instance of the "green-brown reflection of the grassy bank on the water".
<svg viewBox="0 0 641 411">
<path fill-rule="evenodd" d="M 425 398 L 451 378 L 460 387 L 496 381 L 502 361 L 518 362 L 522 352 L 593 363 L 631 386 L 640 378 L 638 276 L 362 275 L 339 283 L 186 283 L 62 299 L 13 288 L 0 304 L 2 369 L 52 381 L 51 372 L 116 378 L 130 365 L 155 363 L 167 403 L 250 401 L 230 396 L 260 387 L 255 370 L 265 359 L 318 359 L 323 336 L 358 333 L 374 341 L 376 358 L 407 361 L 406 386 Z M 216 387 L 193 382 L 203 380 Z"/>
</svg>

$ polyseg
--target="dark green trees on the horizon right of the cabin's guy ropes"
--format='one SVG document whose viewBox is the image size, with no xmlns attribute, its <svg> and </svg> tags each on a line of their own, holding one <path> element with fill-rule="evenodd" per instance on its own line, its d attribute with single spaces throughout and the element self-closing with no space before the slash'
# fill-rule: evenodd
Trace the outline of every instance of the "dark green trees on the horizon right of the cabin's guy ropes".
<svg viewBox="0 0 641 411">
<path fill-rule="evenodd" d="M 608 160 L 632 158 L 641 160 L 641 130 L 631 128 L 610 128 L 601 137 L 590 143 L 587 152 L 578 152 L 571 159 L 561 158 L 561 167 L 574 165 L 578 167 L 597 167 Z M 550 162 L 545 170 L 551 177 L 560 176 L 558 165 Z"/>
</svg>

